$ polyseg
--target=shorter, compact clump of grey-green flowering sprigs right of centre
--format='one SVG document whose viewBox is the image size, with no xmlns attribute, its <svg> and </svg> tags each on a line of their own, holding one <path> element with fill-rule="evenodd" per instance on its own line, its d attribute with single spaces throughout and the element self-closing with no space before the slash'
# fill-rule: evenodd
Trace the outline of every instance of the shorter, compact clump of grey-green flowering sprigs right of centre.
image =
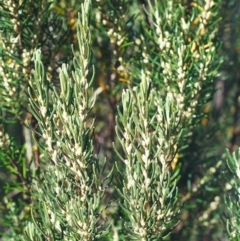
<svg viewBox="0 0 240 241">
<path fill-rule="evenodd" d="M 125 153 L 120 156 L 125 172 L 119 190 L 124 202 L 119 205 L 128 220 L 126 238 L 161 240 L 173 229 L 177 212 L 177 180 L 176 176 L 171 180 L 169 165 L 181 134 L 178 105 L 170 93 L 162 100 L 151 90 L 144 72 L 138 88 L 123 92 L 122 102 L 117 134 Z"/>
</svg>

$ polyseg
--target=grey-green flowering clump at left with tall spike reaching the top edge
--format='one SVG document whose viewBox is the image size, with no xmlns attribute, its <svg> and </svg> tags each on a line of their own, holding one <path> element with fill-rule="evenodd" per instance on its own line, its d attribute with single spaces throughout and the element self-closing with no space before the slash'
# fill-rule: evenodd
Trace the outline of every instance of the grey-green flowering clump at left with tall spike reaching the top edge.
<svg viewBox="0 0 240 241">
<path fill-rule="evenodd" d="M 27 240 L 34 240 L 36 236 L 39 240 L 41 237 L 95 240 L 101 236 L 100 201 L 105 187 L 100 182 L 99 165 L 93 155 L 90 139 L 93 123 L 87 123 L 88 112 L 95 102 L 94 95 L 89 97 L 91 82 L 87 82 L 89 8 L 89 1 L 82 4 L 77 33 L 79 52 L 74 52 L 71 75 L 67 65 L 60 69 L 60 93 L 56 88 L 48 89 L 40 52 L 36 51 L 34 55 L 35 73 L 31 87 L 37 100 L 32 96 L 30 103 L 34 116 L 41 123 L 39 128 L 46 140 L 43 149 L 48 161 L 43 186 L 36 189 L 42 222 L 33 217 L 37 227 L 27 226 Z M 43 195 L 44 190 L 46 195 Z M 39 234 L 34 229 L 38 229 Z"/>
</svg>

